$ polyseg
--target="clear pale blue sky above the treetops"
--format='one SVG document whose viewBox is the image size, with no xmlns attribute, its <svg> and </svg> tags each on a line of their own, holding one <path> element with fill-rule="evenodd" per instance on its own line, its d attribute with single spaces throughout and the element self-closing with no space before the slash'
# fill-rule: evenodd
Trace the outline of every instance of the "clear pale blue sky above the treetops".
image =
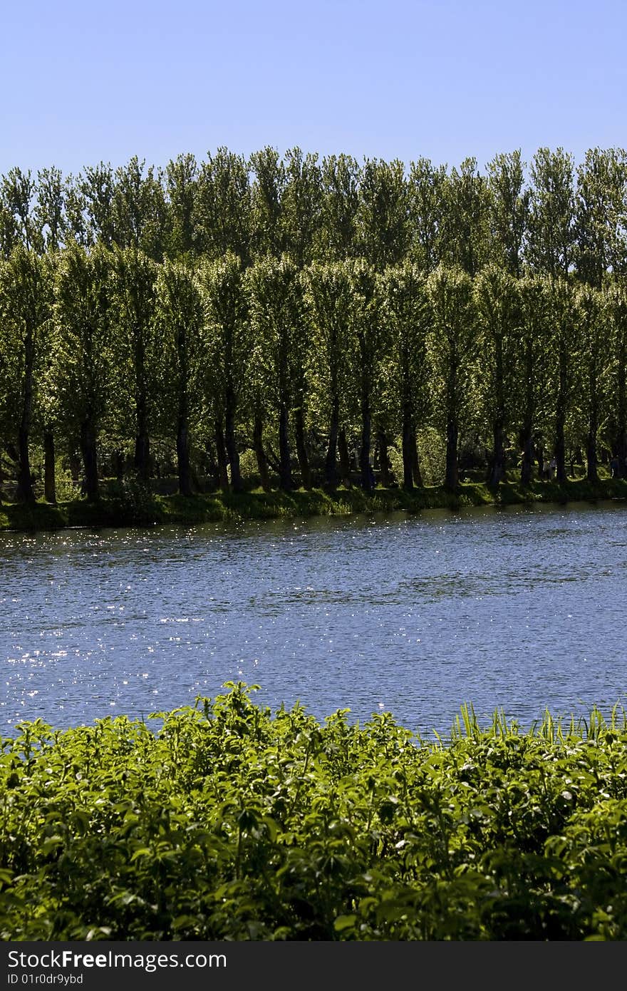
<svg viewBox="0 0 627 991">
<path fill-rule="evenodd" d="M 4 0 L 2 28 L 2 172 L 627 146 L 625 0 Z"/>
</svg>

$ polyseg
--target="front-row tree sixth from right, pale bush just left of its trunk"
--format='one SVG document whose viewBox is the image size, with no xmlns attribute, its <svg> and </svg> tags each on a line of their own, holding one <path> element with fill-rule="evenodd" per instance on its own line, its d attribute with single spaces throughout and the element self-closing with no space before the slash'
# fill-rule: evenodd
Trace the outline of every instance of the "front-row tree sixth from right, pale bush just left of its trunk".
<svg viewBox="0 0 627 991">
<path fill-rule="evenodd" d="M 433 313 L 428 350 L 434 416 L 446 436 L 445 485 L 455 489 L 459 483 L 460 425 L 469 409 L 476 356 L 472 280 L 459 266 L 440 265 L 429 275 L 427 286 Z"/>
</svg>

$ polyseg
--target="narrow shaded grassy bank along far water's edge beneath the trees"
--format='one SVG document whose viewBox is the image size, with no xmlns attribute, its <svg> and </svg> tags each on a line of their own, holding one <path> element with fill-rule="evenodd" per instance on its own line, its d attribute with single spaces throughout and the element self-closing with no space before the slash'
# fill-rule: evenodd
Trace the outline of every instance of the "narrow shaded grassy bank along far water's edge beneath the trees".
<svg viewBox="0 0 627 991">
<path fill-rule="evenodd" d="M 293 493 L 255 491 L 241 495 L 193 495 L 190 498 L 149 495 L 133 484 L 122 484 L 113 487 L 113 491 L 98 503 L 88 503 L 84 499 L 59 502 L 57 505 L 46 502 L 29 506 L 0 503 L 0 530 L 154 526 L 170 522 L 194 524 L 212 520 L 346 515 L 395 509 L 420 512 L 427 508 L 459 509 L 472 505 L 564 504 L 610 498 L 627 498 L 627 480 L 603 479 L 595 484 L 571 480 L 563 486 L 556 482 L 536 482 L 527 489 L 516 482 L 501 483 L 496 489 L 481 483 L 466 483 L 455 492 L 443 486 L 432 486 L 416 489 L 412 493 L 402 489 L 376 489 L 372 495 L 366 495 L 358 488 L 340 488 L 333 493 L 321 489 Z"/>
</svg>

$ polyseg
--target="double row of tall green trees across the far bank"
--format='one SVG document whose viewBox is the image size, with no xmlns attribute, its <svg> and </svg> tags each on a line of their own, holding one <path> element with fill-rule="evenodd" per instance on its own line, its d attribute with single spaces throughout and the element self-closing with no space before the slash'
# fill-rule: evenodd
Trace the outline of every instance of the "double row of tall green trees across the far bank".
<svg viewBox="0 0 627 991">
<path fill-rule="evenodd" d="M 219 149 L 0 180 L 0 447 L 20 500 L 33 450 L 99 496 L 99 459 L 191 495 L 255 453 L 263 489 L 383 485 L 417 436 L 460 480 L 469 437 L 497 485 L 584 452 L 627 475 L 627 153 L 520 152 L 447 168 Z M 126 469 L 125 469 L 126 465 Z"/>
</svg>

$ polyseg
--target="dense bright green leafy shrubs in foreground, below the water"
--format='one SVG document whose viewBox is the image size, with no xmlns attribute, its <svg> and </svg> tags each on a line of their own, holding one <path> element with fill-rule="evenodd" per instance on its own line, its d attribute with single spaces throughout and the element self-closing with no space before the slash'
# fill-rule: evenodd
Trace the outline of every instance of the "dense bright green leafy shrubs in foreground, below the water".
<svg viewBox="0 0 627 991">
<path fill-rule="evenodd" d="M 431 743 L 229 687 L 4 740 L 0 938 L 627 938 L 624 713 Z"/>
</svg>

